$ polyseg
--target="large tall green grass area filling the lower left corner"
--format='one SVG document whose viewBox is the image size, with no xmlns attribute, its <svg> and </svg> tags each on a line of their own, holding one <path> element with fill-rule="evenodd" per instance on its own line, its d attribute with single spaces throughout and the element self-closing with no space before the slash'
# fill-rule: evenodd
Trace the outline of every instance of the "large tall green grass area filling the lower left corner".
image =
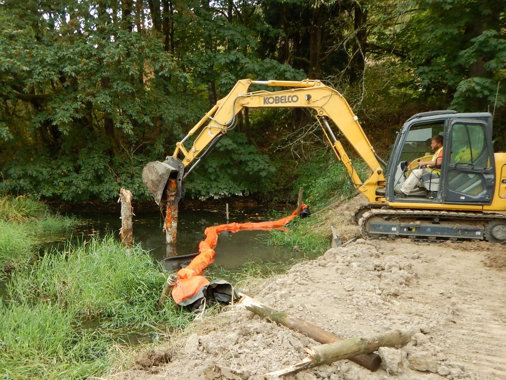
<svg viewBox="0 0 506 380">
<path fill-rule="evenodd" d="M 146 251 L 111 236 L 47 251 L 8 284 L 9 301 L 0 308 L 2 375 L 100 375 L 114 361 L 113 336 L 183 329 L 191 315 L 172 300 L 157 310 L 164 282 Z"/>
</svg>

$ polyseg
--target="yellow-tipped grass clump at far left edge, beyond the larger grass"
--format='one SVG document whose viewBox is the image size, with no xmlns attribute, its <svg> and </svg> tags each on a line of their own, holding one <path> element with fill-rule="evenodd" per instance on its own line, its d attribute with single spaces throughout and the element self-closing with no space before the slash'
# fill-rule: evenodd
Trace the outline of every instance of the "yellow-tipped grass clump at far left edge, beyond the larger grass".
<svg viewBox="0 0 506 380">
<path fill-rule="evenodd" d="M 0 271 L 28 262 L 40 234 L 68 231 L 77 223 L 76 218 L 51 213 L 44 203 L 0 195 Z"/>
</svg>

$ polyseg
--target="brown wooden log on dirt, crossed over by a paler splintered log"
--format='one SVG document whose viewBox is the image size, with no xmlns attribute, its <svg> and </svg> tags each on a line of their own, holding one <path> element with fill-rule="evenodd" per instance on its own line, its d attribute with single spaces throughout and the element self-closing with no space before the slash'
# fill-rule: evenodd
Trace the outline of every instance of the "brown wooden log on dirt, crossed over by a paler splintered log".
<svg viewBox="0 0 506 380">
<path fill-rule="evenodd" d="M 268 306 L 263 305 L 260 301 L 247 295 L 242 295 L 239 303 L 242 303 L 242 305 L 244 305 L 244 307 L 250 312 L 255 313 L 277 324 L 286 326 L 292 330 L 299 331 L 302 334 L 313 338 L 319 343 L 326 344 L 343 340 L 342 337 L 325 331 L 309 322 L 304 321 L 303 319 L 293 317 L 284 312 L 269 308 Z M 373 372 L 377 370 L 381 364 L 379 355 L 372 353 L 350 357 L 350 360 Z"/>
</svg>

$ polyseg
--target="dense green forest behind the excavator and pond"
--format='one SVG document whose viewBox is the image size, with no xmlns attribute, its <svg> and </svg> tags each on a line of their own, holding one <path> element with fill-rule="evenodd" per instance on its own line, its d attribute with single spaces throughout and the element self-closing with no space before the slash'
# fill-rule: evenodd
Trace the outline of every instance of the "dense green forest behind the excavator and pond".
<svg viewBox="0 0 506 380">
<path fill-rule="evenodd" d="M 328 81 L 384 158 L 448 108 L 494 112 L 504 150 L 505 21 L 502 0 L 0 0 L 0 191 L 147 199 L 144 165 L 244 78 Z M 334 164 L 318 128 L 245 109 L 187 194 L 290 196 Z"/>
</svg>

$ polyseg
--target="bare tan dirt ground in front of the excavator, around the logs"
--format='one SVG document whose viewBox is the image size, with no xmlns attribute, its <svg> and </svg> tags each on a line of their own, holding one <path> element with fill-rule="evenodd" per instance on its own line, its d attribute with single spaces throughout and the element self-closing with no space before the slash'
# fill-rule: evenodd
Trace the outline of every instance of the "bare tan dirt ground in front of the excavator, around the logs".
<svg viewBox="0 0 506 380">
<path fill-rule="evenodd" d="M 379 349 L 383 364 L 374 373 L 345 360 L 286 379 L 506 379 L 504 246 L 359 239 L 246 293 L 342 337 L 394 328 L 415 333 L 400 350 Z M 316 344 L 232 306 L 139 355 L 138 369 L 111 378 L 260 380 Z M 160 353 L 171 361 L 149 366 Z"/>
</svg>

